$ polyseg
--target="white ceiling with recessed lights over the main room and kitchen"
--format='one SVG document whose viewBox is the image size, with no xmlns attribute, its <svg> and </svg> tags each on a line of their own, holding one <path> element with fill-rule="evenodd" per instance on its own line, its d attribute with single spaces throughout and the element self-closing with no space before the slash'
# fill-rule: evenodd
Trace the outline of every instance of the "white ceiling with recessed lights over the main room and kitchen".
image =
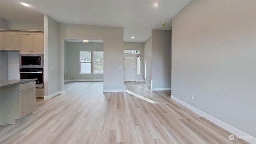
<svg viewBox="0 0 256 144">
<path fill-rule="evenodd" d="M 11 21 L 43 22 L 43 14 L 48 14 L 60 23 L 123 27 L 124 42 L 145 42 L 152 29 L 171 30 L 172 17 L 190 1 L 0 0 L 0 16 Z M 154 2 L 159 6 L 153 7 Z"/>
</svg>

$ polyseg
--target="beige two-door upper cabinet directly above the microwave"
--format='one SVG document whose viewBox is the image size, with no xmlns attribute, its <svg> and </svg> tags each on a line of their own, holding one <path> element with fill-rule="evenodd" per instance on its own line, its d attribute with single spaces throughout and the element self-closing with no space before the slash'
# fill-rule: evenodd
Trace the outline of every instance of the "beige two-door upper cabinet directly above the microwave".
<svg viewBox="0 0 256 144">
<path fill-rule="evenodd" d="M 20 32 L 20 53 L 44 53 L 44 34 Z"/>
</svg>

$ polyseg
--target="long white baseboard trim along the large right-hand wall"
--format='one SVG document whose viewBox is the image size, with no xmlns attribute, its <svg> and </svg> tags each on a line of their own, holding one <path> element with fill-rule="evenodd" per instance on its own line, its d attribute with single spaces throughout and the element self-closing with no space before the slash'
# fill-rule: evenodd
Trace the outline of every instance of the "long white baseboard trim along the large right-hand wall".
<svg viewBox="0 0 256 144">
<path fill-rule="evenodd" d="M 250 136 L 250 134 L 246 134 L 245 132 L 238 130 L 237 128 L 230 126 L 229 124 L 222 122 L 221 120 L 218 120 L 217 118 L 214 118 L 213 116 L 211 116 L 210 114 L 207 114 L 205 112 L 203 112 L 202 110 L 199 110 L 198 108 L 195 108 L 194 106 L 191 106 L 190 104 L 176 98 L 175 96 L 171 95 L 171 99 L 175 100 L 176 102 L 182 104 L 183 106 L 185 106 L 186 108 L 192 110 L 193 112 L 199 114 L 200 116 L 206 118 L 207 120 L 210 120 L 211 122 L 213 122 L 214 124 L 220 126 L 221 128 L 227 130 L 228 132 L 231 132 L 232 134 L 236 135 L 236 136 L 248 136 L 250 138 L 243 138 L 241 137 L 243 140 L 250 142 L 251 144 L 256 144 L 256 138 L 254 138 L 253 136 Z"/>
</svg>

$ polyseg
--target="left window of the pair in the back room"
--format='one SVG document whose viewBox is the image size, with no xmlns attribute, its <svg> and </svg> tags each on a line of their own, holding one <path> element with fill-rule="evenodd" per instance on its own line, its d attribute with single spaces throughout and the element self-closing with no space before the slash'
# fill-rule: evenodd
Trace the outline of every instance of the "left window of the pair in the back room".
<svg viewBox="0 0 256 144">
<path fill-rule="evenodd" d="M 80 74 L 91 73 L 91 52 L 80 51 Z"/>
</svg>

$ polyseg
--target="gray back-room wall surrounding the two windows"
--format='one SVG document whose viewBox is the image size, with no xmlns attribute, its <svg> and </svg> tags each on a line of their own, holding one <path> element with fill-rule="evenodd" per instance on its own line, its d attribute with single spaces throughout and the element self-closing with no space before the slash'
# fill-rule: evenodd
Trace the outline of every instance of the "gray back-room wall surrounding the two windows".
<svg viewBox="0 0 256 144">
<path fill-rule="evenodd" d="M 103 43 L 66 42 L 65 80 L 103 80 L 103 74 L 79 74 L 80 50 L 90 50 L 93 61 L 93 51 L 103 51 Z M 93 63 L 91 64 L 93 70 Z"/>
</svg>

